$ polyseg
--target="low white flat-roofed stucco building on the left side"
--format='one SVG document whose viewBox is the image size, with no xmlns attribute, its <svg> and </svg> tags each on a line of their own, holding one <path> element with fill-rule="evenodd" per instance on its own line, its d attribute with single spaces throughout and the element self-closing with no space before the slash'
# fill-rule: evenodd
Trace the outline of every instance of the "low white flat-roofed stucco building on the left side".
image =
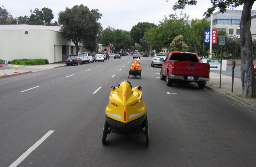
<svg viewBox="0 0 256 167">
<path fill-rule="evenodd" d="M 49 63 L 76 54 L 73 42 L 62 38 L 60 26 L 0 25 L 0 59 L 43 58 Z"/>
</svg>

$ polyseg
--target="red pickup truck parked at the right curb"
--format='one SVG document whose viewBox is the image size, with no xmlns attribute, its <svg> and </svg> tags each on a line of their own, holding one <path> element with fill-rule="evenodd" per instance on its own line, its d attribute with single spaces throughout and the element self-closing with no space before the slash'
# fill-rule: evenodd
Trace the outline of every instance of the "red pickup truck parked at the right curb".
<svg viewBox="0 0 256 167">
<path fill-rule="evenodd" d="M 201 63 L 196 53 L 170 52 L 163 61 L 160 79 L 165 80 L 166 85 L 172 86 L 173 81 L 197 82 L 198 87 L 203 89 L 210 80 L 210 64 Z"/>
</svg>

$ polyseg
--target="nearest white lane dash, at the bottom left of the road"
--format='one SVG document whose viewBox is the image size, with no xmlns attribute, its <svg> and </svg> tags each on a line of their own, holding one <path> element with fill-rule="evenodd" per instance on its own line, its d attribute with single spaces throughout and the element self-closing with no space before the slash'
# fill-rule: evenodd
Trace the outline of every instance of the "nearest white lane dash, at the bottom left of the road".
<svg viewBox="0 0 256 167">
<path fill-rule="evenodd" d="M 14 161 L 9 167 L 18 166 L 33 150 L 35 150 L 47 137 L 49 137 L 54 131 L 47 132 L 40 140 L 38 140 L 32 147 L 30 147 L 25 153 L 23 153 L 16 161 Z"/>
</svg>

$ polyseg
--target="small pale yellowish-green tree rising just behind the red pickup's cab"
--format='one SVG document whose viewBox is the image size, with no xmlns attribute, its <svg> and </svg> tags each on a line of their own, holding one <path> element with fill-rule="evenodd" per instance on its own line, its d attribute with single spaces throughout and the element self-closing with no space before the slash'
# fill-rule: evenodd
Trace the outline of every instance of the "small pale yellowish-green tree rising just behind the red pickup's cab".
<svg viewBox="0 0 256 167">
<path fill-rule="evenodd" d="M 185 44 L 185 42 L 183 41 L 183 36 L 182 35 L 176 36 L 170 44 L 171 51 L 186 52 L 187 47 L 188 47 L 187 44 Z"/>
</svg>

